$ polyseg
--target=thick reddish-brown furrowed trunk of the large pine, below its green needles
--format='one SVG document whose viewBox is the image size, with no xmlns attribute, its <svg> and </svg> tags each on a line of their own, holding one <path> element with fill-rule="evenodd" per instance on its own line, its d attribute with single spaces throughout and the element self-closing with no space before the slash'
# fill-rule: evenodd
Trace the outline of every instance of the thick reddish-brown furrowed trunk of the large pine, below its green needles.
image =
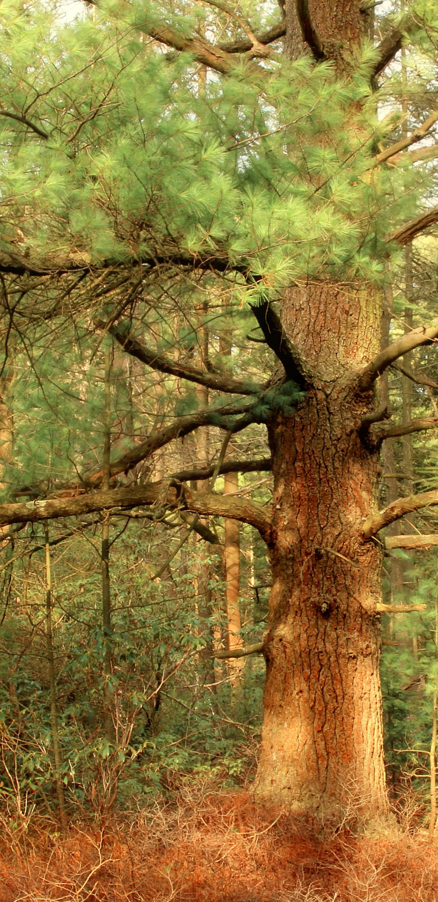
<svg viewBox="0 0 438 902">
<path fill-rule="evenodd" d="M 360 435 L 371 394 L 354 373 L 379 352 L 372 291 L 291 289 L 283 325 L 312 373 L 293 418 L 269 424 L 275 525 L 256 796 L 317 816 L 387 807 L 379 615 L 381 555 L 360 528 L 377 509 L 379 455 Z"/>
</svg>

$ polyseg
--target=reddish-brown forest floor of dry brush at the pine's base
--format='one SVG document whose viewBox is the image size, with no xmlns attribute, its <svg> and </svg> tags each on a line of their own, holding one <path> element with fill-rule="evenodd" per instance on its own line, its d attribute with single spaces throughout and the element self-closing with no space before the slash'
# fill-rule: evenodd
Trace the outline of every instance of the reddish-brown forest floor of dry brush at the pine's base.
<svg viewBox="0 0 438 902">
<path fill-rule="evenodd" d="M 438 842 L 414 822 L 411 808 L 379 836 L 316 836 L 247 791 L 188 782 L 64 833 L 41 818 L 19 839 L 4 821 L 0 902 L 438 902 Z"/>
</svg>

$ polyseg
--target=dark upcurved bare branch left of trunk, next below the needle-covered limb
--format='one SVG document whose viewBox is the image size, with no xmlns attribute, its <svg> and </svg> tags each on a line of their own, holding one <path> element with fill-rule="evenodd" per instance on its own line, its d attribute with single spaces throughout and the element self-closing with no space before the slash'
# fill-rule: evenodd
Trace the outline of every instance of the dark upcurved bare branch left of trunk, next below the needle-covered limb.
<svg viewBox="0 0 438 902">
<path fill-rule="evenodd" d="M 143 345 L 136 338 L 127 335 L 123 324 L 109 327 L 108 331 L 122 345 L 123 351 L 136 357 L 142 364 L 151 366 L 153 370 L 159 370 L 160 373 L 169 373 L 169 375 L 177 376 L 178 379 L 187 379 L 188 382 L 196 382 L 196 384 L 205 385 L 214 391 L 224 391 L 230 394 L 251 395 L 261 391 L 261 386 L 240 382 L 219 373 L 203 373 L 196 366 L 179 364 L 165 354 L 158 354 L 154 348 Z"/>
</svg>

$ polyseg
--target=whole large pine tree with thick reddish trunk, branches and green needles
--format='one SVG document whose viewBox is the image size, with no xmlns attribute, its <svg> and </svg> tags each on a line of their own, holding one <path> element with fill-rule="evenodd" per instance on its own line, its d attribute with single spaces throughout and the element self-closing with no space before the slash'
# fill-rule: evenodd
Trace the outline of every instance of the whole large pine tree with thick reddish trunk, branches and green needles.
<svg viewBox="0 0 438 902">
<path fill-rule="evenodd" d="M 363 0 L 288 0 L 265 21 L 251 10 L 251 23 L 213 0 L 97 5 L 67 25 L 38 5 L 2 16 L 6 356 L 23 324 L 41 341 L 48 323 L 73 323 L 78 353 L 90 331 L 110 333 L 146 366 L 204 386 L 209 405 L 188 393 L 114 457 L 109 489 L 85 455 L 82 483 L 71 472 L 55 495 L 40 484 L 36 500 L 5 499 L 0 523 L 166 502 L 259 529 L 273 585 L 256 796 L 315 815 L 353 796 L 384 815 L 374 537 L 436 499 L 377 515 L 382 441 L 434 425 L 391 432 L 377 385 L 438 336 L 424 327 L 380 348 L 390 254 L 438 219 L 415 207 L 418 173 L 406 192 L 387 161 L 437 116 L 391 144 L 397 116 L 379 125 L 374 92 L 419 16 L 389 20 L 376 47 Z M 199 311 L 217 345 L 202 364 Z M 233 374 L 220 354 L 229 318 L 259 337 Z M 199 474 L 123 482 L 196 428 L 254 423 L 270 462 L 224 466 L 271 467 L 269 507 L 195 491 Z"/>
</svg>

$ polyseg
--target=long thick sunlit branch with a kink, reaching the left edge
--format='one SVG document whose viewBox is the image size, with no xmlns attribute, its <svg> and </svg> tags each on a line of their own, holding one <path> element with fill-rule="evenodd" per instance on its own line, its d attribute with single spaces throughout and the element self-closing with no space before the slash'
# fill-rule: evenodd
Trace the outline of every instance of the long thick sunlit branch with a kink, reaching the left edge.
<svg viewBox="0 0 438 902">
<path fill-rule="evenodd" d="M 248 499 L 215 495 L 214 492 L 184 491 L 180 484 L 169 480 L 123 489 L 79 492 L 76 495 L 70 492 L 65 498 L 48 498 L 25 504 L 0 504 L 0 526 L 78 517 L 114 508 L 123 511 L 143 505 L 161 505 L 170 509 L 179 507 L 206 517 L 230 517 L 259 529 L 263 538 L 268 539 L 270 535 L 269 511 L 260 504 Z"/>
</svg>

